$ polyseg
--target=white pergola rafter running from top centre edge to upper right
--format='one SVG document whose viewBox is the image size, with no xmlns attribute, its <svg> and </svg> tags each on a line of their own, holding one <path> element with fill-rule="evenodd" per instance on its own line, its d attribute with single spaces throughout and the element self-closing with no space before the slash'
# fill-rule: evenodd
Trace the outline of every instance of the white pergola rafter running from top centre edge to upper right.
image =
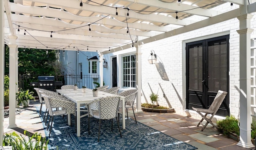
<svg viewBox="0 0 256 150">
<path fill-rule="evenodd" d="M 125 0 L 125 1 L 134 2 L 134 0 Z M 159 8 L 164 8 L 166 10 L 174 10 L 174 12 L 188 10 L 188 11 L 184 11 L 184 12 L 193 14 L 193 15 L 204 16 L 204 17 L 212 17 L 212 16 L 222 14 L 222 12 L 198 8 L 196 6 L 191 6 L 191 5 L 187 5 L 187 4 L 182 4 L 182 6 L 177 6 L 177 3 L 165 3 L 165 2 L 160 2 L 160 1 L 156 1 L 156 0 L 148 0 L 148 1 L 136 0 L 136 3 L 144 4 L 146 6 L 157 6 Z M 196 8 L 196 9 L 190 10 L 193 8 Z"/>
</svg>

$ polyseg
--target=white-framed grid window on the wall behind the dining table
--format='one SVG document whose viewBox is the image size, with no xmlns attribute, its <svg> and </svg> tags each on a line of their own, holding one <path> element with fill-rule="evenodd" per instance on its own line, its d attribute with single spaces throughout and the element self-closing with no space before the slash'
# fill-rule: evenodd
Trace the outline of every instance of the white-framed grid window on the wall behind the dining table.
<svg viewBox="0 0 256 150">
<path fill-rule="evenodd" d="M 136 55 L 122 57 L 122 88 L 136 88 Z"/>
</svg>

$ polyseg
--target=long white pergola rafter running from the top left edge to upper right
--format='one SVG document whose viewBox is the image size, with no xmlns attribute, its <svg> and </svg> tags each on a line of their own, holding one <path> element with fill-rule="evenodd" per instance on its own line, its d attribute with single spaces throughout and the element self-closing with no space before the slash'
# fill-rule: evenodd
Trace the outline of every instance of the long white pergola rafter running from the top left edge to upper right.
<svg viewBox="0 0 256 150">
<path fill-rule="evenodd" d="M 37 2 L 40 0 L 32 0 L 32 1 Z M 154 0 L 148 0 L 148 1 L 154 1 Z M 49 5 L 58 4 L 64 8 L 67 7 L 67 8 L 73 8 L 73 9 L 79 9 L 78 6 L 80 4 L 79 1 L 78 1 L 78 3 L 70 3 L 68 0 L 64 0 L 62 3 L 59 3 L 58 0 L 57 1 L 56 0 L 44 0 L 44 2 Z M 174 8 L 176 8 L 176 7 L 177 7 L 177 5 L 174 6 Z M 100 14 L 106 14 L 106 12 L 108 12 L 108 14 L 116 16 L 116 9 L 109 8 L 106 6 L 92 6 L 92 5 L 88 5 L 88 4 L 83 4 L 83 9 L 86 11 L 98 12 Z M 129 11 L 129 14 L 130 14 L 129 15 L 130 18 L 137 18 L 137 19 L 141 19 L 141 20 L 145 20 L 145 21 L 149 21 L 149 22 L 164 22 L 164 23 L 176 24 L 176 25 L 188 25 L 188 24 L 191 24 L 194 22 L 191 20 L 182 20 L 182 21 L 176 22 L 176 19 L 172 18 L 172 17 L 159 16 L 159 15 L 155 15 L 155 14 L 143 15 L 143 14 L 135 13 L 133 11 Z M 118 9 L 118 16 L 126 17 L 127 10 L 122 9 L 122 8 Z M 91 22 L 93 22 L 93 21 L 91 21 Z"/>
</svg>

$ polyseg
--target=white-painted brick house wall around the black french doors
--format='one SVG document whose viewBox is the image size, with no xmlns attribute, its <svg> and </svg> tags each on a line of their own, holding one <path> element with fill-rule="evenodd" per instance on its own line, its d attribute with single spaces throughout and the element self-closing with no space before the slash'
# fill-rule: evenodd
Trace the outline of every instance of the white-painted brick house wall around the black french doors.
<svg viewBox="0 0 256 150">
<path fill-rule="evenodd" d="M 221 9 L 221 8 L 220 8 Z M 252 36 L 256 37 L 256 17 L 251 20 L 251 27 L 254 29 Z M 239 34 L 236 30 L 239 29 L 239 21 L 237 18 L 230 19 L 221 23 L 210 25 L 201 29 L 183 33 L 166 39 L 154 41 L 142 45 L 142 103 L 151 102 L 149 95 L 151 92 L 158 93 L 159 105 L 172 107 L 177 113 L 184 113 L 185 108 L 185 87 L 182 86 L 185 82 L 182 78 L 182 51 L 185 51 L 183 41 L 189 41 L 194 38 L 208 39 L 216 37 L 217 35 L 229 33 L 230 34 L 230 113 L 235 117 L 239 115 Z M 168 80 L 162 80 L 155 64 L 148 63 L 148 56 L 150 51 L 154 50 L 157 55 L 158 62 L 162 63 L 164 67 L 160 73 L 166 73 Z M 135 49 L 127 50 L 135 51 Z M 124 53 L 124 51 L 122 51 Z M 113 55 L 121 56 L 121 52 L 114 53 Z M 112 55 L 106 55 L 109 58 Z M 108 60 L 109 62 L 110 60 Z M 110 83 L 111 72 L 110 69 L 104 70 L 104 82 L 108 85 Z M 119 81 L 120 76 L 118 76 Z M 108 82 L 109 81 L 109 82 Z M 118 84 L 120 85 L 120 84 Z M 165 97 L 163 96 L 165 94 Z M 196 113 L 191 115 L 197 116 Z M 198 117 L 198 116 L 197 116 Z"/>
</svg>

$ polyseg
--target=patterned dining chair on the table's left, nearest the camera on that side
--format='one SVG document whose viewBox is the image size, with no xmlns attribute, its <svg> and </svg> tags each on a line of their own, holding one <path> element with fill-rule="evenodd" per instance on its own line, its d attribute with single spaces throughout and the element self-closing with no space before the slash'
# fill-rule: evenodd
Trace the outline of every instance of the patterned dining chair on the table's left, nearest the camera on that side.
<svg viewBox="0 0 256 150">
<path fill-rule="evenodd" d="M 51 122 L 50 133 L 49 133 L 49 136 L 50 136 L 52 131 L 52 122 L 53 122 L 54 116 L 66 115 L 66 114 L 73 114 L 74 116 L 76 116 L 76 103 L 72 101 L 67 101 L 66 99 L 63 99 L 58 95 L 47 95 L 45 93 L 42 93 L 41 95 L 42 97 L 44 97 L 46 108 L 48 109 L 48 114 L 50 115 L 50 119 L 46 129 L 48 130 Z M 61 108 L 61 109 L 55 109 L 55 108 Z"/>
</svg>

